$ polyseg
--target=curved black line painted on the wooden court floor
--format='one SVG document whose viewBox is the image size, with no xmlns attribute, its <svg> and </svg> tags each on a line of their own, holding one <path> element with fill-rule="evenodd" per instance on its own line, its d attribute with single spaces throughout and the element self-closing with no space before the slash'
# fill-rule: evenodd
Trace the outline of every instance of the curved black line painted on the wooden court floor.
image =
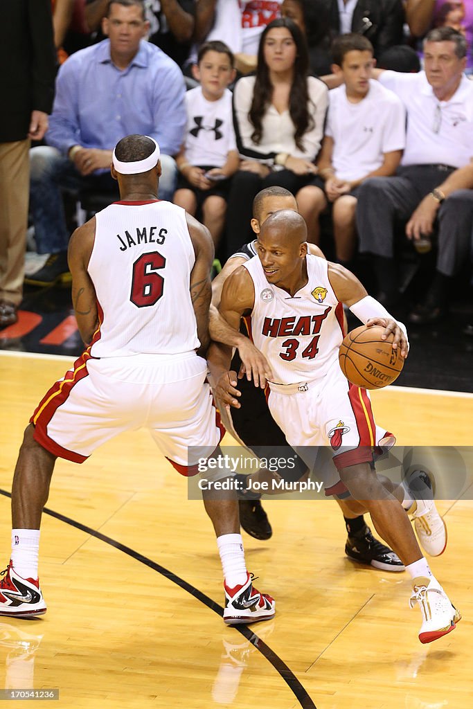
<svg viewBox="0 0 473 709">
<path fill-rule="evenodd" d="M 6 490 L 0 489 L 0 494 L 4 495 L 5 497 L 11 498 L 11 493 L 7 492 Z M 101 542 L 105 542 L 111 547 L 115 547 L 116 549 L 118 549 L 118 551 L 123 552 L 124 554 L 128 554 L 129 557 L 132 557 L 136 561 L 140 562 L 140 564 L 145 564 L 145 566 L 149 566 L 150 569 L 153 569 L 153 571 L 157 571 L 158 574 L 164 576 L 165 579 L 169 579 L 169 581 L 172 581 L 173 584 L 176 584 L 176 586 L 182 588 L 183 591 L 187 591 L 187 593 L 190 593 L 191 596 L 194 596 L 194 598 L 196 598 L 198 601 L 204 603 L 204 605 L 206 605 L 207 608 L 210 608 L 210 610 L 213 610 L 214 613 L 216 613 L 220 617 L 223 616 L 223 608 L 221 605 L 218 605 L 216 601 L 212 601 L 212 599 L 206 596 L 205 593 L 199 591 L 199 588 L 192 586 L 187 581 L 184 581 L 184 579 L 181 579 L 180 576 L 177 576 L 177 574 L 174 574 L 172 571 L 169 571 L 169 569 L 166 569 L 165 566 L 161 566 L 161 564 L 153 562 L 152 559 L 148 559 L 148 557 L 143 556 L 143 554 L 136 552 L 135 549 L 131 549 L 130 547 L 127 547 L 121 542 L 117 542 L 111 537 L 107 537 L 101 532 L 93 530 L 91 527 L 87 527 L 87 525 L 83 525 L 82 523 L 77 522 L 76 520 L 72 520 L 70 517 L 66 517 L 65 515 L 62 515 L 59 512 L 55 512 L 55 510 L 50 510 L 49 508 L 45 507 L 43 509 L 43 512 L 47 515 L 50 515 L 50 517 L 54 517 L 55 519 L 60 520 L 60 522 L 64 522 L 68 525 L 71 525 L 72 527 L 76 527 L 76 529 L 81 530 L 82 532 L 86 532 L 86 534 L 89 534 L 92 537 L 96 537 L 96 539 L 101 540 Z M 313 700 L 308 695 L 308 692 L 306 691 L 306 689 L 304 689 L 304 686 L 302 686 L 299 679 L 297 679 L 292 670 L 289 669 L 286 663 L 279 657 L 279 655 L 274 652 L 274 650 L 269 647 L 269 645 L 264 642 L 264 640 L 261 640 L 261 638 L 258 637 L 255 632 L 250 630 L 250 628 L 246 625 L 233 625 L 232 627 L 234 630 L 238 630 L 240 635 L 243 635 L 247 640 L 249 640 L 256 647 L 256 649 L 261 652 L 263 657 L 265 657 L 267 661 L 272 664 L 279 676 L 281 676 L 282 679 L 284 679 L 284 681 L 286 682 L 287 686 L 289 686 L 289 689 L 299 701 L 299 704 L 301 705 L 302 709 L 317 709 L 316 705 L 313 703 Z"/>
</svg>

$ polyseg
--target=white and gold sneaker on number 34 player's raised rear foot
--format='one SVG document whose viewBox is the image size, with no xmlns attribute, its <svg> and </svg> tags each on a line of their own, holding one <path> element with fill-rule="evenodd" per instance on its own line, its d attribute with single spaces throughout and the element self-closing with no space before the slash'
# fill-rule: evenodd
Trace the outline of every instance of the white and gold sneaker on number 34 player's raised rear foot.
<svg viewBox="0 0 473 709">
<path fill-rule="evenodd" d="M 408 514 L 421 547 L 430 557 L 440 557 L 447 546 L 447 527 L 435 507 L 430 478 L 425 471 L 416 470 L 409 476 L 408 486 L 416 498 Z"/>
</svg>

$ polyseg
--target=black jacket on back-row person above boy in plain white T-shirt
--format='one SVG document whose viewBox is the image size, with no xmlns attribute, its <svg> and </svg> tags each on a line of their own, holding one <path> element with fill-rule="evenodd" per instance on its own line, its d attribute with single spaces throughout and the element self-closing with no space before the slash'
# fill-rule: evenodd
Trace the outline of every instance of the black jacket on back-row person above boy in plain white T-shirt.
<svg viewBox="0 0 473 709">
<path fill-rule="evenodd" d="M 330 24 L 340 34 L 337 0 L 330 3 Z M 352 32 L 365 35 L 374 47 L 374 56 L 403 41 L 404 8 L 401 0 L 358 0 L 352 18 Z"/>
</svg>

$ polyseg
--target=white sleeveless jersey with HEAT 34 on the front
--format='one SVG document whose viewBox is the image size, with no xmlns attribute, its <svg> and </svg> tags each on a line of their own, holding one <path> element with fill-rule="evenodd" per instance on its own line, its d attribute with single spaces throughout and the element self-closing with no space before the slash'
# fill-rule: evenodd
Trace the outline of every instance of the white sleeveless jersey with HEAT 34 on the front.
<svg viewBox="0 0 473 709">
<path fill-rule="evenodd" d="M 321 379 L 338 367 L 343 306 L 328 279 L 328 262 L 306 256 L 308 282 L 294 296 L 268 283 L 259 257 L 243 266 L 255 285 L 253 342 L 271 365 L 274 382 Z"/>
</svg>

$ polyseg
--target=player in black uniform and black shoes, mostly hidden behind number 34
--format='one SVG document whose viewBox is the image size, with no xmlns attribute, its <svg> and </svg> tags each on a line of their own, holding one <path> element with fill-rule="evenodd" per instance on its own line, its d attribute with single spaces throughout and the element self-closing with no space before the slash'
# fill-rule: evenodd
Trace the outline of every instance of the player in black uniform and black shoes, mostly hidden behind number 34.
<svg viewBox="0 0 473 709">
<path fill-rule="evenodd" d="M 284 187 L 271 186 L 258 192 L 253 201 L 253 218 L 251 220 L 252 230 L 255 235 L 260 233 L 262 223 L 279 209 L 298 211 L 296 198 L 289 190 L 284 189 Z M 256 240 L 245 244 L 228 259 L 221 272 L 212 281 L 211 338 L 217 342 L 225 342 L 226 344 L 230 342 L 235 347 L 246 348 L 244 350 L 245 357 L 249 356 L 248 350 L 252 348 L 252 344 L 247 337 L 247 331 L 244 330 L 243 337 L 235 338 L 236 333 L 226 325 L 226 321 L 218 315 L 216 308 L 218 308 L 220 303 L 221 291 L 226 279 L 238 266 L 256 255 L 256 246 Z M 311 254 L 324 258 L 323 253 L 316 245 L 308 244 L 308 250 Z M 245 320 L 241 321 L 240 330 L 242 328 L 245 328 Z M 257 353 L 254 357 L 255 359 L 257 358 Z M 241 360 L 237 350 L 233 356 L 230 369 L 239 372 L 240 364 Z M 264 361 L 260 364 L 260 371 L 264 374 Z M 228 432 L 231 432 L 233 428 L 238 435 L 238 439 L 256 455 L 260 454 L 262 456 L 269 445 L 286 448 L 286 437 L 272 418 L 271 413 L 269 413 L 264 391 L 259 387 L 255 387 L 252 381 L 249 381 L 246 377 L 241 379 L 239 389 L 241 394 L 239 398 L 240 407 L 233 409 L 231 416 L 233 426 L 226 425 Z M 291 454 L 294 454 L 294 452 L 289 449 L 287 455 L 291 456 Z M 371 530 L 365 523 L 365 518 L 359 513 L 360 506 L 358 503 L 353 500 L 343 501 L 339 498 L 335 498 L 335 500 L 338 502 L 345 518 L 348 534 L 345 545 L 347 556 L 355 562 L 368 564 L 384 571 L 404 571 L 404 564 L 399 557 L 372 535 Z M 240 499 L 239 506 L 240 525 L 245 532 L 255 537 L 255 539 L 269 539 L 272 535 L 272 528 L 265 510 L 262 508 L 260 496 L 252 495 L 250 499 Z M 445 536 L 443 523 L 440 523 L 440 533 Z M 443 543 L 441 548 L 443 549 L 444 546 L 445 543 Z"/>
</svg>

